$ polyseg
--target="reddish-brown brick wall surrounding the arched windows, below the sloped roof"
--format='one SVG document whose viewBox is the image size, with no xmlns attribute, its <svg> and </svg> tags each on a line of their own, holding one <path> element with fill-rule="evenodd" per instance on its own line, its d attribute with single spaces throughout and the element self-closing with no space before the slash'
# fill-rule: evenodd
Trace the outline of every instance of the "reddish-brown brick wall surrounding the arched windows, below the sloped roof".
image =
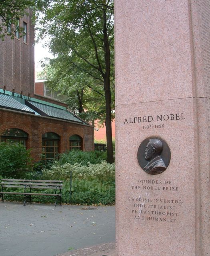
<svg viewBox="0 0 210 256">
<path fill-rule="evenodd" d="M 31 156 L 34 161 L 40 158 L 42 134 L 46 132 L 55 132 L 60 136 L 60 153 L 69 149 L 69 137 L 74 134 L 82 137 L 83 150 L 94 150 L 93 127 L 4 109 L 0 109 L 0 116 L 0 133 L 10 128 L 17 128 L 28 134 L 26 146 L 32 149 Z"/>
</svg>

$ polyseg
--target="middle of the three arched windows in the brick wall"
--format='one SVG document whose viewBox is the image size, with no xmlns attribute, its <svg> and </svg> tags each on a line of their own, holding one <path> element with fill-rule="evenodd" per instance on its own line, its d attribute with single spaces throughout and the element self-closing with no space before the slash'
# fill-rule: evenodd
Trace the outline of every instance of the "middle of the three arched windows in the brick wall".
<svg viewBox="0 0 210 256">
<path fill-rule="evenodd" d="M 54 132 L 46 132 L 42 135 L 43 159 L 49 160 L 58 155 L 59 136 Z"/>
</svg>

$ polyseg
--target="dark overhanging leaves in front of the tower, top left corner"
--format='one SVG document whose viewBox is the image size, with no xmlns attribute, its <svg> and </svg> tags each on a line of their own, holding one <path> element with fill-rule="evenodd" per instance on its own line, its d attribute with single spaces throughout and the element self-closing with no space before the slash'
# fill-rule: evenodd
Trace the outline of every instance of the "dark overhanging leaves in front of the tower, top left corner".
<svg viewBox="0 0 210 256">
<path fill-rule="evenodd" d="M 5 35 L 14 38 L 15 31 L 23 32 L 23 28 L 19 28 L 17 18 L 28 15 L 27 8 L 35 5 L 35 0 L 0 0 L 0 38 L 4 40 Z M 7 28 L 10 24 L 12 26 L 11 32 Z"/>
</svg>

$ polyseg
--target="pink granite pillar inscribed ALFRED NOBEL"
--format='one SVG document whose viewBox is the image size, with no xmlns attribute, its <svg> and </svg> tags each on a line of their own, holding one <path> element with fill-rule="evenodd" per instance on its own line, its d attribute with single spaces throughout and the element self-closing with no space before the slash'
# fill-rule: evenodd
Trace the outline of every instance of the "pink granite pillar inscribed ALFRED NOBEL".
<svg viewBox="0 0 210 256">
<path fill-rule="evenodd" d="M 115 22 L 116 255 L 209 256 L 210 2 L 115 0 Z M 171 152 L 156 175 L 150 137 Z"/>
</svg>

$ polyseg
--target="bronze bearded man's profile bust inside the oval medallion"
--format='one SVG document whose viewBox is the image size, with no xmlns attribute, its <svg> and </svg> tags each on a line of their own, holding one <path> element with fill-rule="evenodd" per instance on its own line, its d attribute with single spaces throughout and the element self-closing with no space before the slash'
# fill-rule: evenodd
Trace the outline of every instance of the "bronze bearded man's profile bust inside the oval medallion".
<svg viewBox="0 0 210 256">
<path fill-rule="evenodd" d="M 144 158 L 149 162 L 143 170 L 149 174 L 160 174 L 166 170 L 167 166 L 162 160 L 161 152 L 163 150 L 162 142 L 158 139 L 150 139 L 144 150 Z"/>
</svg>

